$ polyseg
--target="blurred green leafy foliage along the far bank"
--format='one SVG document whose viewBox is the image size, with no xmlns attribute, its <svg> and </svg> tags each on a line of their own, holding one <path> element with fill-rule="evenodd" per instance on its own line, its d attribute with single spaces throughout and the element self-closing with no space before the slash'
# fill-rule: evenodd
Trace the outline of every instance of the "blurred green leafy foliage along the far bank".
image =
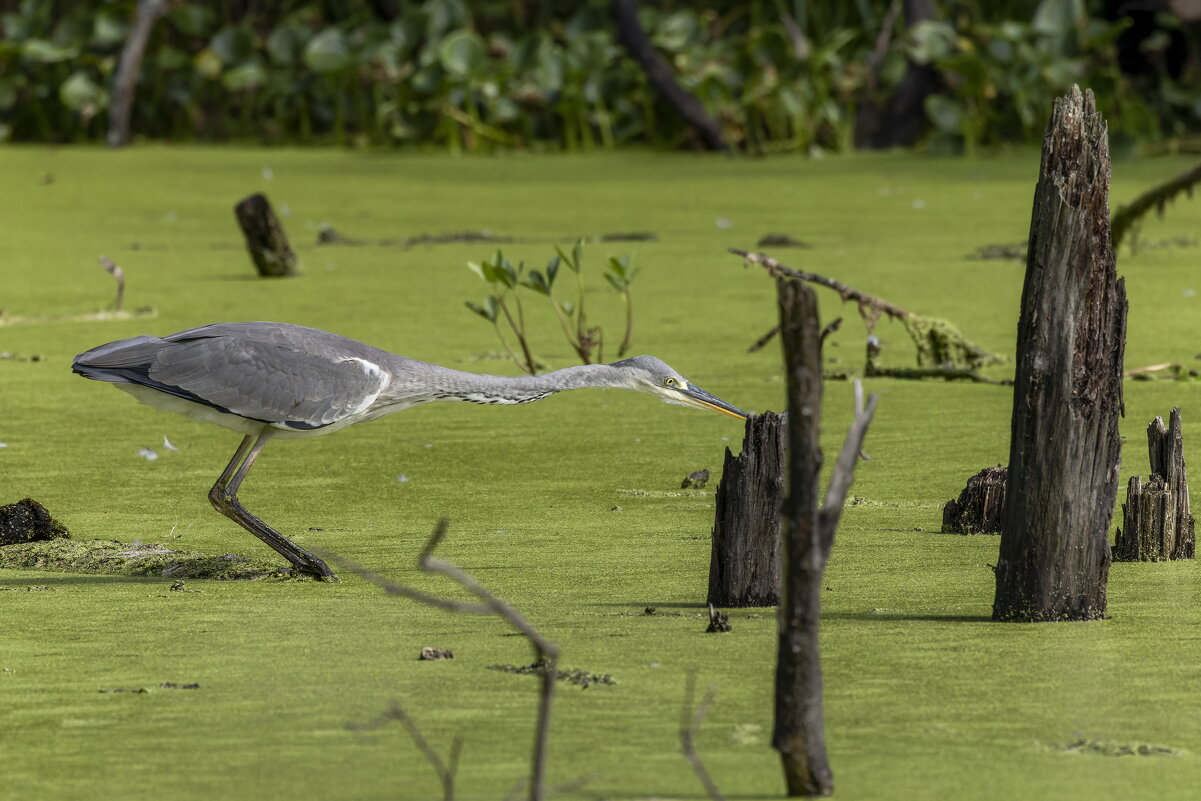
<svg viewBox="0 0 1201 801">
<path fill-rule="evenodd" d="M 908 30 L 894 5 L 665 1 L 640 16 L 680 83 L 751 151 L 849 149 L 856 108 L 888 97 L 909 60 L 940 76 L 925 107 L 936 149 L 1038 139 L 1072 83 L 1130 141 L 1201 119 L 1197 43 L 1182 74 L 1136 84 L 1118 70 L 1123 24 L 1100 16 L 1104 4 L 945 0 Z M 102 141 L 135 7 L 0 0 L 0 141 Z M 450 151 L 693 143 L 615 41 L 604 0 L 173 0 L 147 48 L 132 128 Z"/>
</svg>

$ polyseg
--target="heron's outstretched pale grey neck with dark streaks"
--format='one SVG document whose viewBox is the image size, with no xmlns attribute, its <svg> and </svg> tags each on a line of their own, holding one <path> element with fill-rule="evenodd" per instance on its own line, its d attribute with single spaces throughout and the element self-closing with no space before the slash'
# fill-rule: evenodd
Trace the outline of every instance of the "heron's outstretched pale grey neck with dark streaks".
<svg viewBox="0 0 1201 801">
<path fill-rule="evenodd" d="M 608 364 L 563 367 L 540 376 L 488 376 L 438 367 L 428 376 L 428 385 L 432 395 L 429 400 L 497 405 L 530 404 L 582 387 L 635 388 L 620 370 Z"/>
</svg>

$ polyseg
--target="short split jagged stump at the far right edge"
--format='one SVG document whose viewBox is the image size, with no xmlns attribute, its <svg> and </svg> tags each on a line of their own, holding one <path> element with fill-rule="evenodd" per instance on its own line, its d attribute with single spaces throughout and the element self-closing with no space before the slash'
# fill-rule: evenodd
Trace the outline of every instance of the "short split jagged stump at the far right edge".
<svg viewBox="0 0 1201 801">
<path fill-rule="evenodd" d="M 1184 466 L 1181 410 L 1173 408 L 1169 424 L 1157 417 L 1147 426 L 1151 478 L 1130 477 L 1122 527 L 1113 544 L 1113 560 L 1159 562 L 1190 560 L 1196 551 L 1189 483 Z"/>
</svg>

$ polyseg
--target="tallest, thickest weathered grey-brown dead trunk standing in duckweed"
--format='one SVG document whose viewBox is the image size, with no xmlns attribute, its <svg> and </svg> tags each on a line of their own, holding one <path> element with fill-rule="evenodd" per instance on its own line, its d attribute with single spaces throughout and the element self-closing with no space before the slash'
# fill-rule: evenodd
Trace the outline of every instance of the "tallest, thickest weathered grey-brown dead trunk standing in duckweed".
<svg viewBox="0 0 1201 801">
<path fill-rule="evenodd" d="M 994 620 L 1105 616 L 1127 300 L 1093 92 L 1054 102 L 1034 190 Z"/>
</svg>

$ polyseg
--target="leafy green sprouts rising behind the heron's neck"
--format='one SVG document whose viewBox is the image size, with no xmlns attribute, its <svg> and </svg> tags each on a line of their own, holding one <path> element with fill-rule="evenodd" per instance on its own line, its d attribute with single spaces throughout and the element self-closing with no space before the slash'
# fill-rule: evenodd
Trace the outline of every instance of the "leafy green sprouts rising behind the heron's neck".
<svg viewBox="0 0 1201 801">
<path fill-rule="evenodd" d="M 491 287 L 491 294 L 484 298 L 483 304 L 467 301 L 467 309 L 492 323 L 497 339 L 504 346 L 504 352 L 530 375 L 534 375 L 542 365 L 530 347 L 520 289 L 528 289 L 550 301 L 563 331 L 563 337 L 575 351 L 581 364 L 604 361 L 604 328 L 590 325 L 584 309 L 582 257 L 584 240 L 576 240 L 570 252 L 556 245 L 555 256 L 546 262 L 545 271 L 530 270 L 526 274 L 524 262 L 519 262 L 514 267 L 501 251 L 496 251 L 491 261 L 467 262 L 467 268 Z M 555 279 L 558 277 L 560 267 L 564 264 L 575 274 L 574 303 L 558 300 L 555 297 Z M 634 306 L 629 285 L 637 274 L 638 268 L 633 265 L 631 255 L 609 257 L 608 271 L 604 276 L 609 281 L 609 286 L 621 295 L 622 306 L 626 310 L 626 330 L 617 348 L 619 359 L 625 357 L 633 346 Z M 504 327 L 501 325 L 502 321 Z M 509 331 L 508 335 L 506 329 Z M 510 337 L 516 341 L 515 348 L 509 343 Z"/>
</svg>

